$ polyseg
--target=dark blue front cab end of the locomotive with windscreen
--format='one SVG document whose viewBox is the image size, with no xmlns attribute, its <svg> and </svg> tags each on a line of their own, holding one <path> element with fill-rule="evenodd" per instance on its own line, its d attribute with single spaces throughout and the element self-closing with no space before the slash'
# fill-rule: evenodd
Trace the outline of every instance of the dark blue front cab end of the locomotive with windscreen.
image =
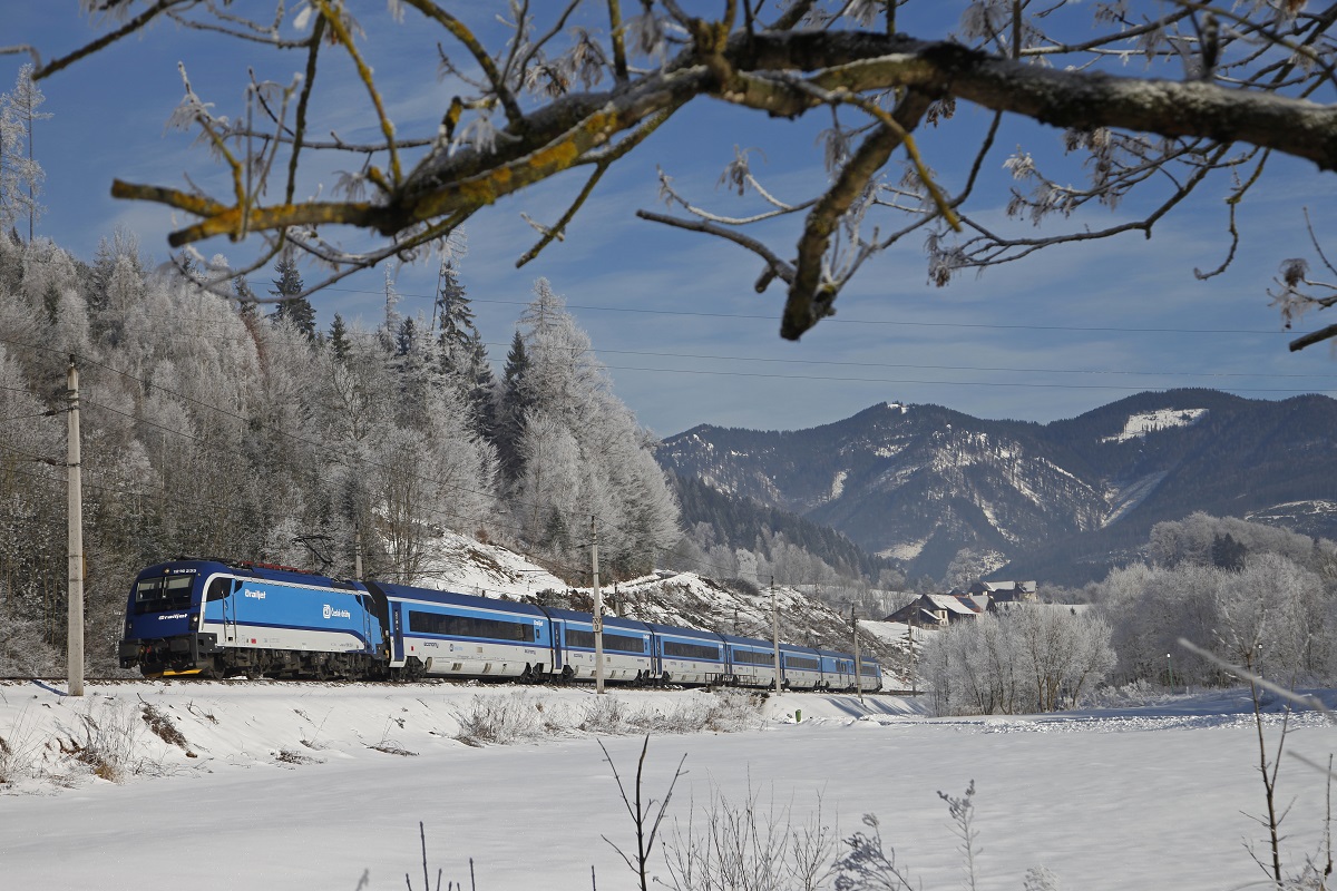
<svg viewBox="0 0 1337 891">
<path fill-rule="evenodd" d="M 146 676 L 198 675 L 213 667 L 218 636 L 199 632 L 210 564 L 158 564 L 139 573 L 126 604 L 120 667 Z"/>
</svg>

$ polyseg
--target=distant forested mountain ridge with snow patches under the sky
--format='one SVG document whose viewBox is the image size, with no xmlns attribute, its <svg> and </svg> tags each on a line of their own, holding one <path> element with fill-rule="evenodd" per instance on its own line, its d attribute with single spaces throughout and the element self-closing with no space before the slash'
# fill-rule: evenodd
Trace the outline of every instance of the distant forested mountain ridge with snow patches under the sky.
<svg viewBox="0 0 1337 891">
<path fill-rule="evenodd" d="M 882 402 L 793 431 L 697 425 L 656 457 L 916 576 L 941 577 L 969 548 L 1027 577 L 1082 584 L 1128 558 L 1155 522 L 1195 510 L 1337 534 L 1337 510 L 1325 506 L 1337 502 L 1334 437 L 1337 401 L 1325 395 L 1177 389 L 1048 423 Z"/>
</svg>

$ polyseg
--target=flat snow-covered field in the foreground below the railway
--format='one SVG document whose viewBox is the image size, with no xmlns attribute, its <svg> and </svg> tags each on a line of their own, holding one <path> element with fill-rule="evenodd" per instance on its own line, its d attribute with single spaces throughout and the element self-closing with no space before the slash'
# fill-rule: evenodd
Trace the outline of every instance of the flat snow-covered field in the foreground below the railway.
<svg viewBox="0 0 1337 891">
<path fill-rule="evenodd" d="M 420 820 L 443 888 L 471 887 L 471 858 L 479 891 L 591 888 L 591 867 L 599 888 L 635 887 L 600 838 L 635 846 L 598 740 L 626 779 L 642 743 L 630 733 L 648 711 L 690 721 L 714 705 L 699 692 L 619 692 L 610 709 L 591 691 L 435 684 L 144 681 L 87 692 L 76 701 L 40 684 L 0 685 L 8 769 L 27 772 L 0 787 L 0 887 L 382 891 L 404 888 L 409 874 L 421 888 Z M 483 747 L 455 739 L 488 705 L 539 715 L 536 736 Z M 148 711 L 166 716 L 159 728 L 175 729 L 175 743 L 150 732 Z M 1263 878 L 1245 848 L 1263 844 L 1249 816 L 1263 800 L 1238 692 L 1043 717 L 920 711 L 893 697 L 860 705 L 785 695 L 737 732 L 656 732 L 647 793 L 662 797 L 686 755 L 670 824 L 695 803 L 699 826 L 713 793 L 741 801 L 749 788 L 796 822 L 820 803 L 844 836 L 872 812 L 921 887 L 956 888 L 959 840 L 937 792 L 959 796 L 975 780 L 981 890 L 1020 891 L 1038 866 L 1067 890 L 1238 888 Z M 1322 763 L 1337 751 L 1337 729 L 1321 716 L 1298 715 L 1293 727 L 1292 751 Z M 60 756 L 56 739 L 67 749 L 132 740 L 127 775 L 98 779 Z M 1325 785 L 1294 759 L 1281 777 L 1298 867 L 1321 838 Z M 673 826 L 664 836 L 673 842 Z M 667 879 L 662 858 L 654 863 Z"/>
</svg>

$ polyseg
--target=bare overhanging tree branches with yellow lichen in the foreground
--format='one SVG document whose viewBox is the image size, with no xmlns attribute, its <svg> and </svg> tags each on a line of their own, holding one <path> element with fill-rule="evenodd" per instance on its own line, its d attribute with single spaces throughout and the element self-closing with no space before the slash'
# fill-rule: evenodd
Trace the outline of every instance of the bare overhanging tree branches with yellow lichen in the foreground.
<svg viewBox="0 0 1337 891">
<path fill-rule="evenodd" d="M 106 32 L 40 64 L 37 77 L 162 19 L 303 59 L 286 84 L 253 75 L 245 107 L 230 115 L 191 88 L 183 65 L 175 123 L 198 130 L 230 174 L 227 194 L 119 180 L 114 194 L 193 216 L 170 236 L 175 247 L 258 236 L 265 248 L 242 273 L 289 247 L 306 251 L 329 271 L 309 290 L 389 256 L 424 255 L 499 199 L 584 171 L 563 214 L 531 220 L 539 235 L 519 258 L 528 262 L 564 235 L 614 164 L 698 100 L 830 120 L 818 148 L 829 175 L 812 194 L 767 188 L 753 152 L 739 151 L 721 178 L 741 196 L 738 212 L 694 203 L 668 171 L 660 179 L 670 212 L 639 212 L 751 252 L 757 290 L 777 281 L 786 287 L 786 338 L 830 315 L 860 267 L 893 246 L 927 244 L 929 279 L 945 285 L 1063 242 L 1150 235 L 1190 194 L 1217 188 L 1225 199 L 1219 263 L 1197 273 L 1210 278 L 1233 260 L 1235 215 L 1266 180 L 1274 154 L 1321 171 L 1337 167 L 1337 110 L 1314 102 L 1334 81 L 1337 5 L 1300 0 L 972 0 L 955 28 L 939 4 L 909 0 L 517 0 L 504 7 L 501 27 L 469 4 L 432 0 L 394 0 L 365 21 L 344 0 L 310 0 L 291 19 L 282 3 L 259 0 L 83 5 L 106 20 Z M 277 12 L 247 16 L 266 5 Z M 424 75 L 440 68 L 455 96 L 422 132 L 401 132 L 388 111 L 392 85 L 377 81 L 368 63 L 372 37 L 424 27 L 440 33 Z M 920 33 L 904 33 L 912 28 Z M 37 56 L 11 48 L 21 49 Z M 366 96 L 364 120 L 378 138 L 346 140 L 321 118 L 336 107 L 345 114 L 345 103 L 320 102 L 332 90 L 332 55 L 352 61 Z M 959 115 L 965 103 L 987 114 Z M 1009 116 L 1059 128 L 1062 139 L 1027 130 L 1035 146 L 1001 147 Z M 943 132 L 931 136 L 936 130 Z M 313 175 L 302 175 L 321 155 L 354 167 L 333 196 L 317 196 Z M 1075 160 L 1086 182 L 1064 184 Z M 991 200 L 976 210 L 976 187 L 999 168 L 1013 179 L 1008 215 L 1043 220 L 1042 231 L 991 220 Z M 1083 212 L 1120 204 L 1127 215 L 1118 220 Z M 773 234 L 770 222 L 786 219 L 797 231 L 789 247 L 754 234 Z M 328 232 L 345 226 L 382 240 L 340 247 Z M 1297 270 L 1282 275 L 1290 310 L 1305 299 Z M 219 286 L 237 274 L 211 271 Z"/>
</svg>

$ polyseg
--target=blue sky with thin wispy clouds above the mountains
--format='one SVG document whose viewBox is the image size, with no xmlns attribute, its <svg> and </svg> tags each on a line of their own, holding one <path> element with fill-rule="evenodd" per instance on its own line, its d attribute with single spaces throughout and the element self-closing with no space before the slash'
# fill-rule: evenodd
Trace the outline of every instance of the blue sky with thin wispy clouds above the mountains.
<svg viewBox="0 0 1337 891">
<path fill-rule="evenodd" d="M 481 15 L 481 4 L 469 8 Z M 436 35 L 412 23 L 388 28 L 382 9 L 374 3 L 361 15 L 390 115 L 400 132 L 431 130 L 452 95 L 435 79 Z M 905 24 L 915 31 L 913 21 Z M 92 33 L 71 0 L 0 0 L 0 45 L 32 43 L 52 57 Z M 187 172 L 197 182 L 219 182 L 193 134 L 166 130 L 182 95 L 178 60 L 197 92 L 223 114 L 242 107 L 247 65 L 287 81 L 302 64 L 295 53 L 158 25 L 44 80 L 44 111 L 53 116 L 36 131 L 37 160 L 47 172 L 39 235 L 91 259 L 99 239 L 120 224 L 138 232 L 146 254 L 167 258 L 166 232 L 183 220 L 174 223 L 155 206 L 115 202 L 110 187 L 114 178 L 179 186 Z M 0 90 L 11 88 L 21 63 L 0 56 Z M 321 77 L 333 87 L 328 120 L 345 138 L 366 135 L 365 94 L 349 72 L 336 68 Z M 781 341 L 783 290 L 753 291 L 759 269 L 750 254 L 640 222 L 634 211 L 662 208 L 658 164 L 693 199 L 730 212 L 730 196 L 717 191 L 715 180 L 734 146 L 761 148 L 758 171 L 767 184 L 786 196 L 806 196 L 825 176 L 814 146 L 825 122 L 812 118 L 777 123 L 701 100 L 610 172 L 564 243 L 520 270 L 515 260 L 536 238 L 520 214 L 555 220 L 583 180 L 559 179 L 479 214 L 468 224 L 463 281 L 495 362 L 503 361 L 515 319 L 541 275 L 590 333 L 618 395 L 660 435 L 697 423 L 810 427 L 884 401 L 1043 422 L 1150 389 L 1207 386 L 1251 398 L 1337 394 L 1332 351 L 1289 353 L 1293 333 L 1281 330 L 1265 294 L 1281 259 L 1312 254 L 1304 207 L 1321 235 L 1337 232 L 1330 207 L 1337 180 L 1288 159 L 1270 164 L 1266 187 L 1254 190 L 1243 207 L 1243 242 L 1233 269 L 1209 282 L 1197 281 L 1194 267 L 1215 267 L 1227 246 L 1223 195 L 1210 187 L 1162 220 L 1150 240 L 1130 234 L 1060 246 L 947 289 L 927 283 L 915 239 L 869 263 L 838 299 L 834 319 L 798 343 Z M 929 163 L 945 178 L 955 175 L 960 147 L 983 122 L 984 115 L 963 104 L 948 127 L 924 135 Z M 1011 184 L 1003 160 L 1017 144 L 1036 155 L 1056 154 L 1059 136 L 1011 123 L 985 163 L 989 182 L 976 194 L 973 211 L 1000 222 Z M 1134 211 L 1102 211 L 1087 222 L 1107 224 Z M 796 232 L 773 230 L 781 247 L 793 244 Z M 249 247 L 218 242 L 201 250 L 239 263 Z M 254 279 L 257 290 L 267 287 L 267 277 Z M 401 269 L 400 309 L 428 311 L 435 282 L 435 263 Z M 381 289 L 382 273 L 374 270 L 313 302 L 322 325 L 337 311 L 372 326 L 381 318 Z M 1302 327 L 1329 321 L 1310 315 Z"/>
</svg>

